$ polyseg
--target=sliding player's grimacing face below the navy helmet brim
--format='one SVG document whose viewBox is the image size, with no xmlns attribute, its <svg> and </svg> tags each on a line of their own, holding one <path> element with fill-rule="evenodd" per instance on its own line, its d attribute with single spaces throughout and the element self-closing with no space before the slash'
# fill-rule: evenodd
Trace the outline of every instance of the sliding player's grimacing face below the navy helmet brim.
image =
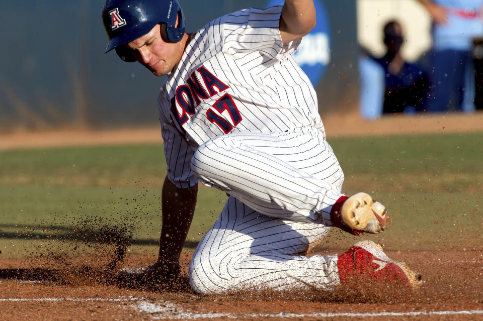
<svg viewBox="0 0 483 321">
<path fill-rule="evenodd" d="M 170 73 L 179 63 L 183 54 L 181 42 L 166 42 L 157 24 L 151 31 L 126 44 L 136 60 L 156 76 Z"/>
</svg>

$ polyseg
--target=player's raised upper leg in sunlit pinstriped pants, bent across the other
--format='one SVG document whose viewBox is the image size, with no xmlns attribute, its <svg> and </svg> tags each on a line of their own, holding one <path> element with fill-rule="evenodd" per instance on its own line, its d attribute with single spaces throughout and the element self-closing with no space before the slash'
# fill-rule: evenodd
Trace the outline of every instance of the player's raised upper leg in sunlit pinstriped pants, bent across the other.
<svg viewBox="0 0 483 321">
<path fill-rule="evenodd" d="M 192 169 L 268 216 L 331 226 L 344 179 L 332 148 L 315 129 L 220 136 L 199 147 Z"/>
</svg>

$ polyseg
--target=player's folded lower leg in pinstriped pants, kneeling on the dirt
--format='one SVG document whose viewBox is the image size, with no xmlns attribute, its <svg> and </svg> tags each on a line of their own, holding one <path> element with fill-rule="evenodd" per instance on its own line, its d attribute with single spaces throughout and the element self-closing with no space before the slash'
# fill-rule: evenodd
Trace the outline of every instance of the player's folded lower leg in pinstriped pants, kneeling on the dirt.
<svg viewBox="0 0 483 321">
<path fill-rule="evenodd" d="M 193 255 L 190 284 L 201 293 L 338 284 L 335 255 L 294 255 L 328 231 L 320 224 L 262 215 L 230 196 Z"/>
</svg>

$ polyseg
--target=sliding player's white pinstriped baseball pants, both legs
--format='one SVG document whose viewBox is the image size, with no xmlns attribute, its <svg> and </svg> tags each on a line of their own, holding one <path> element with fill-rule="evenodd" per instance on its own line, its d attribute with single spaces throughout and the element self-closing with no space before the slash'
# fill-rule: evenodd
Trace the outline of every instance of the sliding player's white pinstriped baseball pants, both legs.
<svg viewBox="0 0 483 321">
<path fill-rule="evenodd" d="M 199 243 L 190 284 L 201 293 L 327 288 L 340 282 L 337 256 L 295 255 L 329 231 L 342 169 L 322 133 L 239 133 L 198 148 L 192 169 L 230 194 Z"/>
</svg>

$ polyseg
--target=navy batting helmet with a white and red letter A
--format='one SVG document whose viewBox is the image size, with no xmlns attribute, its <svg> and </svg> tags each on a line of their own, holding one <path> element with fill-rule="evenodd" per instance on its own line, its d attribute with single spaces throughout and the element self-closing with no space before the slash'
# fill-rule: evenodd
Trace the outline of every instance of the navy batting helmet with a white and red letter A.
<svg viewBox="0 0 483 321">
<path fill-rule="evenodd" d="M 149 33 L 156 24 L 166 24 L 164 36 L 168 41 L 178 42 L 185 33 L 185 18 L 178 0 L 107 0 L 102 8 L 102 22 L 109 38 L 106 52 L 116 48 L 119 57 L 128 62 L 136 59 L 122 45 Z"/>
</svg>

